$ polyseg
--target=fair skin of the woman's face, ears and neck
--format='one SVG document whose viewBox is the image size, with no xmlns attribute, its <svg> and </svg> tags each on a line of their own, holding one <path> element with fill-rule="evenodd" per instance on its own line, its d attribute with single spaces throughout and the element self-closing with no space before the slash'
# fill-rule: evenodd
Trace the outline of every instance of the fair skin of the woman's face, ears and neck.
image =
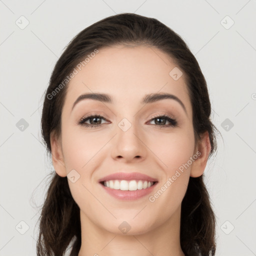
<svg viewBox="0 0 256 256">
<path fill-rule="evenodd" d="M 152 50 L 153 49 L 153 50 Z M 87 255 L 184 255 L 180 247 L 180 209 L 189 176 L 202 175 L 210 151 L 208 133 L 195 143 L 192 106 L 184 75 L 174 80 L 169 72 L 176 65 L 162 51 L 146 46 L 111 46 L 99 52 L 70 81 L 61 114 L 61 135 L 51 133 L 52 163 L 64 177 L 72 169 L 80 177 L 71 194 L 80 208 L 81 248 Z M 83 93 L 105 93 L 112 103 L 83 99 Z M 149 93 L 178 97 L 141 104 Z M 97 127 L 77 124 L 84 116 L 104 117 Z M 176 119 L 157 123 L 155 116 Z M 154 118 L 153 118 L 154 117 Z M 131 124 L 123 131 L 118 123 Z M 162 121 L 165 121 L 163 126 Z M 93 120 L 86 121 L 93 124 Z M 127 124 L 125 124 L 127 125 Z M 200 155 L 153 202 L 153 195 L 175 171 L 199 151 Z M 134 200 L 116 199 L 98 183 L 101 177 L 123 170 L 137 171 L 158 180 L 149 195 Z M 130 230 L 118 226 L 126 221 Z"/>
</svg>

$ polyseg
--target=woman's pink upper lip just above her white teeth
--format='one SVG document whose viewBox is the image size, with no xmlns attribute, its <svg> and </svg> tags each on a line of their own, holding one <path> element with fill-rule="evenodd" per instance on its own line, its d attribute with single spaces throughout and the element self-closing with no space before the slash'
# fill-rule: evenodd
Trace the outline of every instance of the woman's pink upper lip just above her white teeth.
<svg viewBox="0 0 256 256">
<path fill-rule="evenodd" d="M 106 180 L 146 180 L 146 181 L 157 181 L 156 178 L 150 177 L 146 174 L 142 174 L 139 172 L 115 172 L 109 175 L 106 175 L 98 180 L 98 182 L 106 181 Z"/>
</svg>

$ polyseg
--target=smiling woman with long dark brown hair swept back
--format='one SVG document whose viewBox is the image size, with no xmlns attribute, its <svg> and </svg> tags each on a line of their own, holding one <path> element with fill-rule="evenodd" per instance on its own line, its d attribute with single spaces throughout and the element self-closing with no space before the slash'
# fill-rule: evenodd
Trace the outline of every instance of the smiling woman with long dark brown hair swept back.
<svg viewBox="0 0 256 256">
<path fill-rule="evenodd" d="M 122 13 L 78 33 L 44 98 L 55 171 L 37 255 L 214 255 L 210 112 L 195 57 L 158 20 Z"/>
</svg>

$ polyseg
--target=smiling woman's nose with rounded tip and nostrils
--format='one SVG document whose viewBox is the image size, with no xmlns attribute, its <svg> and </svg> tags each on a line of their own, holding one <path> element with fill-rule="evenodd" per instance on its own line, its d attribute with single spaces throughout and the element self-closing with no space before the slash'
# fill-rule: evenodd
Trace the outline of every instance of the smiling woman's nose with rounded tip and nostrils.
<svg viewBox="0 0 256 256">
<path fill-rule="evenodd" d="M 111 155 L 114 160 L 132 162 L 146 158 L 147 147 L 142 132 L 134 124 L 125 130 L 118 126 L 113 138 Z"/>
</svg>

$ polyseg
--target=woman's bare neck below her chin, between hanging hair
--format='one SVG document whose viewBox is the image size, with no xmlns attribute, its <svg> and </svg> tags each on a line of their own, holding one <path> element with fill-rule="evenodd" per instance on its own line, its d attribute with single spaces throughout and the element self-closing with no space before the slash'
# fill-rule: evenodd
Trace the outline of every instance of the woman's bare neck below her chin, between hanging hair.
<svg viewBox="0 0 256 256">
<path fill-rule="evenodd" d="M 81 247 L 78 256 L 184 256 L 179 238 L 180 207 L 163 224 L 145 233 L 109 232 L 90 221 L 82 211 L 80 220 Z"/>
</svg>

